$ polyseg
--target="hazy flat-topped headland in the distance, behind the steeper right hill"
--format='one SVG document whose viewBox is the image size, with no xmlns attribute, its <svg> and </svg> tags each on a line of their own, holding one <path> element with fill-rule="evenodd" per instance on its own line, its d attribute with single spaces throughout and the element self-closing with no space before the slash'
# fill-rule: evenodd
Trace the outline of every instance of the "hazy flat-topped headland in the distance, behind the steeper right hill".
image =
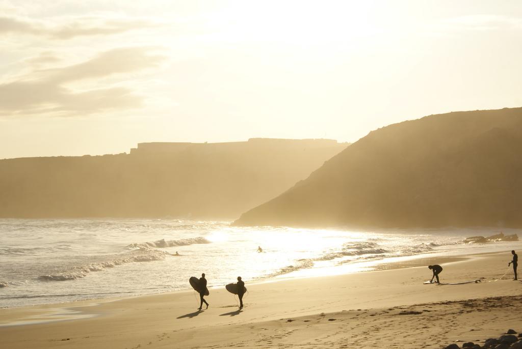
<svg viewBox="0 0 522 349">
<path fill-rule="evenodd" d="M 233 219 L 342 151 L 334 140 L 139 143 L 130 154 L 0 160 L 0 217 Z"/>
</svg>

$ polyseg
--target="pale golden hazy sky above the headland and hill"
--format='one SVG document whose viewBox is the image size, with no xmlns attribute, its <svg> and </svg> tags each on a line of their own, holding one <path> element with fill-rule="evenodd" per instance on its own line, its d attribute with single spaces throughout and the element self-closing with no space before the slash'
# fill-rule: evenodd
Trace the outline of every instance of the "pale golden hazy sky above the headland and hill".
<svg viewBox="0 0 522 349">
<path fill-rule="evenodd" d="M 0 0 L 0 158 L 520 107 L 520 43 L 518 0 Z"/>
</svg>

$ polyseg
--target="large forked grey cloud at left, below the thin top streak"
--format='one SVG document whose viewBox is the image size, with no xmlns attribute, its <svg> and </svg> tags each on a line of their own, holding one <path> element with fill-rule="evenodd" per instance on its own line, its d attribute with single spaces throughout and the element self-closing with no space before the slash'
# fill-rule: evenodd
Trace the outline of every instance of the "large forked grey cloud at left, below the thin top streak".
<svg viewBox="0 0 522 349">
<path fill-rule="evenodd" d="M 79 64 L 35 70 L 1 83 L 0 117 L 87 116 L 139 107 L 144 97 L 128 86 L 97 84 L 79 90 L 71 85 L 156 68 L 164 57 L 153 52 L 150 47 L 116 48 Z"/>
</svg>

